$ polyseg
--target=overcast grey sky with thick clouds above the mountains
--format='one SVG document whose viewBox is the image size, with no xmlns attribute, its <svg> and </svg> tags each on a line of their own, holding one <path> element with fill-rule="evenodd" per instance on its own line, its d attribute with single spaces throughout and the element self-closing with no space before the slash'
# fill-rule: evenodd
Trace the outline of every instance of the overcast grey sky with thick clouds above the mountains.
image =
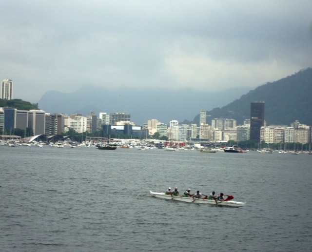
<svg viewBox="0 0 312 252">
<path fill-rule="evenodd" d="M 87 84 L 220 91 L 312 66 L 312 0 L 1 0 L 14 98 Z"/>
</svg>

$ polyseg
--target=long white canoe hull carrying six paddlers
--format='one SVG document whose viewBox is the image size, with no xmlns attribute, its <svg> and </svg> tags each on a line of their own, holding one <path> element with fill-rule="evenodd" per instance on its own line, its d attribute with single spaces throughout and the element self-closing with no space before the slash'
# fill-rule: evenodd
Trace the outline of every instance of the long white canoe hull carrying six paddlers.
<svg viewBox="0 0 312 252">
<path fill-rule="evenodd" d="M 194 199 L 192 197 L 171 196 L 169 194 L 155 193 L 152 191 L 150 191 L 150 194 L 156 198 L 172 199 L 172 200 L 184 201 L 184 202 L 189 202 L 189 203 L 192 203 L 194 201 Z M 199 198 L 199 199 L 196 199 L 193 203 L 203 203 L 203 204 L 215 205 L 215 200 Z M 238 201 L 234 201 L 234 200 L 218 201 L 218 206 L 243 207 L 245 205 L 246 205 L 246 202 L 238 202 Z"/>
</svg>

